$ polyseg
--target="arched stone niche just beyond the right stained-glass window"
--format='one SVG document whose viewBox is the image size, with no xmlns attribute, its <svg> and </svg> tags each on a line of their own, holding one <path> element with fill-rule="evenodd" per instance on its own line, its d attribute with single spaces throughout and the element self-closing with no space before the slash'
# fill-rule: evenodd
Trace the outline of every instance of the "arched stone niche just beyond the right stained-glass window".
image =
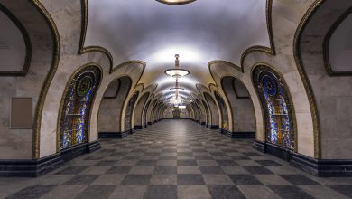
<svg viewBox="0 0 352 199">
<path fill-rule="evenodd" d="M 255 108 L 245 84 L 226 76 L 221 80 L 221 87 L 232 110 L 232 137 L 255 137 Z"/>
</svg>

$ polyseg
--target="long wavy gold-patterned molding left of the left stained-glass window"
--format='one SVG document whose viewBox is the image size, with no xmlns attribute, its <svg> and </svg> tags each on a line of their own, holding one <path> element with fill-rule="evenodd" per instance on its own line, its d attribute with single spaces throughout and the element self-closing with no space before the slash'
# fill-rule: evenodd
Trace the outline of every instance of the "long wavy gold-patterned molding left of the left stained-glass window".
<svg viewBox="0 0 352 199">
<path fill-rule="evenodd" d="M 42 123 L 42 111 L 44 107 L 44 102 L 46 100 L 46 95 L 48 93 L 49 87 L 51 86 L 51 81 L 54 78 L 54 75 L 58 69 L 60 61 L 60 34 L 57 29 L 56 24 L 51 18 L 51 14 L 45 9 L 40 0 L 32 0 L 31 3 L 35 8 L 42 14 L 46 23 L 49 25 L 51 30 L 51 36 L 53 40 L 53 50 L 52 50 L 52 62 L 51 69 L 48 72 L 48 75 L 45 78 L 45 81 L 42 85 L 41 94 L 38 99 L 37 108 L 35 110 L 34 118 L 34 132 L 33 132 L 33 159 L 40 158 L 40 134 L 41 134 L 41 123 Z"/>
</svg>

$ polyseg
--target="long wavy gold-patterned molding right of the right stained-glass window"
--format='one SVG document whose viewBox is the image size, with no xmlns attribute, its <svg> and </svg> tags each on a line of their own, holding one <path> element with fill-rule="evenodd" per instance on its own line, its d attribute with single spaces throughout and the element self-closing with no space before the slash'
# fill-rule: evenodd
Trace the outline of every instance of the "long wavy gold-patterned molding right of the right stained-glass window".
<svg viewBox="0 0 352 199">
<path fill-rule="evenodd" d="M 310 102 L 310 112 L 311 112 L 311 118 L 313 120 L 313 131 L 314 131 L 314 157 L 315 158 L 321 158 L 320 118 L 319 118 L 317 100 L 314 97 L 314 92 L 313 92 L 313 89 L 311 88 L 310 80 L 308 78 L 307 72 L 305 71 L 303 62 L 301 60 L 301 36 L 312 15 L 317 12 L 317 10 L 320 8 L 321 5 L 323 5 L 325 1 L 326 0 L 316 0 L 312 5 L 310 5 L 310 8 L 301 18 L 301 22 L 297 27 L 297 30 L 296 30 L 296 33 L 294 34 L 294 39 L 293 39 L 294 60 L 296 62 L 297 69 L 301 76 L 301 80 L 303 82 L 304 88 L 308 96 L 308 100 Z"/>
</svg>

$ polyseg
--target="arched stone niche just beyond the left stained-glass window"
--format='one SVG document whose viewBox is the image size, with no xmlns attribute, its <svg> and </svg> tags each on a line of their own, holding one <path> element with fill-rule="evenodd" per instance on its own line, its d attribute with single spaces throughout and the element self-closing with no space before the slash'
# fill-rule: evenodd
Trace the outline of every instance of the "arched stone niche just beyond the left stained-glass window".
<svg viewBox="0 0 352 199">
<path fill-rule="evenodd" d="M 111 81 L 104 92 L 97 117 L 99 137 L 120 137 L 122 109 L 131 90 L 132 80 L 123 76 Z"/>
</svg>

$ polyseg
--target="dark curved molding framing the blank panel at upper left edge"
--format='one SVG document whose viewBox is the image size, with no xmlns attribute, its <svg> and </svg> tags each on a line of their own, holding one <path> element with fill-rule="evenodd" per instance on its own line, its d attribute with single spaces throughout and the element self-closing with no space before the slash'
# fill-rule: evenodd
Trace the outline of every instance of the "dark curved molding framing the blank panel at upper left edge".
<svg viewBox="0 0 352 199">
<path fill-rule="evenodd" d="M 32 43 L 31 43 L 31 38 L 29 36 L 29 33 L 27 30 L 24 28 L 23 24 L 20 22 L 19 19 L 10 11 L 8 10 L 5 5 L 2 5 L 0 3 L 0 11 L 3 12 L 20 30 L 23 36 L 23 41 L 25 45 L 25 57 L 24 57 L 24 64 L 23 64 L 23 70 L 22 71 L 0 71 L 0 76 L 26 76 L 29 67 L 31 65 L 31 60 L 32 60 Z"/>
</svg>

